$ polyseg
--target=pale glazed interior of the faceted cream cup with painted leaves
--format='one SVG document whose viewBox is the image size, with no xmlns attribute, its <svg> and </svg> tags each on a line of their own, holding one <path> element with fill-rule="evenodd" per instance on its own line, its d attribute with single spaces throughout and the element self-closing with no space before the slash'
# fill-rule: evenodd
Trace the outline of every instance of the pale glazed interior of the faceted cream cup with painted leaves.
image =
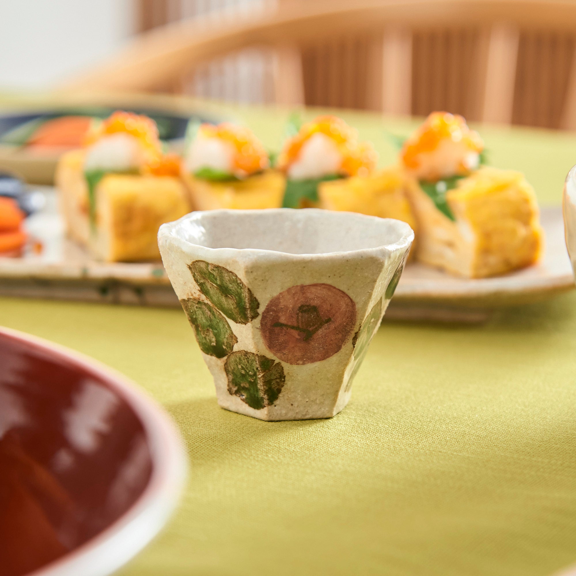
<svg viewBox="0 0 576 576">
<path fill-rule="evenodd" d="M 318 209 L 197 211 L 165 224 L 160 234 L 206 248 L 259 249 L 289 254 L 348 252 L 407 245 L 408 224 Z"/>
</svg>

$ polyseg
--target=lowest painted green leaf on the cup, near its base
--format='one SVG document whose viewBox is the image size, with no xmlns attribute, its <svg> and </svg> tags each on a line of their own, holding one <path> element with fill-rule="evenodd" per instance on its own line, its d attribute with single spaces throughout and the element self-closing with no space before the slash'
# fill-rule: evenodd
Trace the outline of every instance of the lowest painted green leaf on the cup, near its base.
<svg viewBox="0 0 576 576">
<path fill-rule="evenodd" d="M 286 380 L 280 362 L 246 350 L 230 354 L 224 370 L 228 392 L 255 410 L 274 404 Z"/>
</svg>

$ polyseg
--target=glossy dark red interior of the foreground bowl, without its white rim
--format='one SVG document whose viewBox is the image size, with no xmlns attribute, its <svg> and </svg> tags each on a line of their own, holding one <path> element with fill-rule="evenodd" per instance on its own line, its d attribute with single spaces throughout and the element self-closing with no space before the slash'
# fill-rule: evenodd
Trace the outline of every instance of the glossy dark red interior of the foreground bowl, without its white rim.
<svg viewBox="0 0 576 576">
<path fill-rule="evenodd" d="M 19 576 L 113 524 L 149 483 L 138 415 L 73 357 L 0 333 L 0 573 Z"/>
</svg>

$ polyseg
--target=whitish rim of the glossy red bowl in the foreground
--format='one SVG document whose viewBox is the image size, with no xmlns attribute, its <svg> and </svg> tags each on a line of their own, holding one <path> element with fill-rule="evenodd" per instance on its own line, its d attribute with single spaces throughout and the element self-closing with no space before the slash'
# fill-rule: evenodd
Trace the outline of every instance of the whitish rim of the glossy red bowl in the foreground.
<svg viewBox="0 0 576 576">
<path fill-rule="evenodd" d="M 49 351 L 56 359 L 63 359 L 94 374 L 118 393 L 141 420 L 150 446 L 152 472 L 137 501 L 102 532 L 25 576 L 111 574 L 156 536 L 180 498 L 187 468 L 180 434 L 154 400 L 134 382 L 108 366 L 70 348 L 11 328 L 0 327 L 0 334 Z"/>
</svg>

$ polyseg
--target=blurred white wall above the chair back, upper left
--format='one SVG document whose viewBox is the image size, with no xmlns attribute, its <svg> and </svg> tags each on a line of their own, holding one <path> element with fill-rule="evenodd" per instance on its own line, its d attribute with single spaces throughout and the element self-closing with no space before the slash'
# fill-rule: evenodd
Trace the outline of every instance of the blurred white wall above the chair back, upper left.
<svg viewBox="0 0 576 576">
<path fill-rule="evenodd" d="M 0 90 L 50 88 L 115 53 L 131 0 L 0 0 Z"/>
</svg>

